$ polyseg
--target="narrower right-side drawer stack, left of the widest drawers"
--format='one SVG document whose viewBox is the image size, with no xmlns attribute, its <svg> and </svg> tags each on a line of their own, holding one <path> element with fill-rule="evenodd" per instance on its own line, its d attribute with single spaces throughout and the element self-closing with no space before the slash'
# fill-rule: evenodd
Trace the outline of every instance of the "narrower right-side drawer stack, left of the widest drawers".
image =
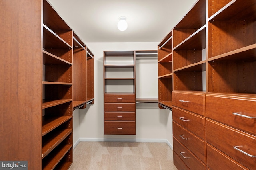
<svg viewBox="0 0 256 170">
<path fill-rule="evenodd" d="M 172 92 L 174 164 L 206 170 L 205 94 Z"/>
</svg>

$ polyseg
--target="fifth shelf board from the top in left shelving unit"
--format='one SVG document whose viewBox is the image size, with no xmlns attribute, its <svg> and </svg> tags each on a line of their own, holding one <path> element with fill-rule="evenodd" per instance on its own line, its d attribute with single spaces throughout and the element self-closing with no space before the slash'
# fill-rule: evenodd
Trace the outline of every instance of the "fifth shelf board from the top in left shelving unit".
<svg viewBox="0 0 256 170">
<path fill-rule="evenodd" d="M 60 116 L 60 117 L 43 117 L 43 128 L 42 128 L 42 136 L 46 135 L 48 132 L 52 131 L 56 127 L 62 125 L 72 116 Z"/>
</svg>

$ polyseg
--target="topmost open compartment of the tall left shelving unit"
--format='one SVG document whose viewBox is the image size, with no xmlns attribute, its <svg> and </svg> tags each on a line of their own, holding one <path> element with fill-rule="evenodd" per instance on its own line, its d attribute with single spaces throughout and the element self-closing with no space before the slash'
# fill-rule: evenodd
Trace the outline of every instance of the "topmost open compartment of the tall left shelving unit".
<svg viewBox="0 0 256 170">
<path fill-rule="evenodd" d="M 65 23 L 52 6 L 46 1 L 43 1 L 43 23 L 52 32 L 56 33 L 66 43 L 72 47 L 73 35 L 72 29 Z"/>
</svg>

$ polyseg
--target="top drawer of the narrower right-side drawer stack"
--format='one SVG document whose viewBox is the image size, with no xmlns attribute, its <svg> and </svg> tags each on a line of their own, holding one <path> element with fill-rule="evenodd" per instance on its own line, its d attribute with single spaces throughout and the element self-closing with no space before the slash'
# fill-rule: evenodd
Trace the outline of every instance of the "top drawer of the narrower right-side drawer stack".
<svg viewBox="0 0 256 170">
<path fill-rule="evenodd" d="M 172 105 L 205 116 L 205 94 L 173 91 Z"/>
</svg>

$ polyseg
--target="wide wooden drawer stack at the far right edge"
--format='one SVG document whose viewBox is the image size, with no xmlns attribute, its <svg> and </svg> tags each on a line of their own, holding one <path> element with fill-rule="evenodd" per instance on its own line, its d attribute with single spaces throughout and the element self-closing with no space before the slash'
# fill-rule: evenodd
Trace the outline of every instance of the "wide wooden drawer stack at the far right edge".
<svg viewBox="0 0 256 170">
<path fill-rule="evenodd" d="M 207 162 L 211 170 L 255 169 L 256 98 L 206 95 Z"/>
</svg>

